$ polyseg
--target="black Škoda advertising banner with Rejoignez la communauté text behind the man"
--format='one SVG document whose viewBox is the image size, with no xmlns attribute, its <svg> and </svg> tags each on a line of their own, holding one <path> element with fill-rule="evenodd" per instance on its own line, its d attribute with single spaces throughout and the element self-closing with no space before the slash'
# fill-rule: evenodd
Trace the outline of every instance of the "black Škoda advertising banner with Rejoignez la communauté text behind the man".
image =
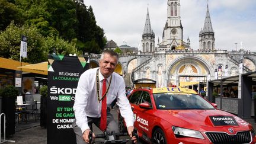
<svg viewBox="0 0 256 144">
<path fill-rule="evenodd" d="M 89 69 L 85 57 L 49 55 L 47 143 L 76 143 L 73 103 L 80 75 Z"/>
</svg>

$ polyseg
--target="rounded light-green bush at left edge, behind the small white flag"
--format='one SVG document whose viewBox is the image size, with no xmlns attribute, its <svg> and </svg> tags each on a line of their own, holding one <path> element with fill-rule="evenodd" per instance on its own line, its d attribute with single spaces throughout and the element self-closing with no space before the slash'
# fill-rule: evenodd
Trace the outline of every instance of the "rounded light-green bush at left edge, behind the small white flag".
<svg viewBox="0 0 256 144">
<path fill-rule="evenodd" d="M 27 37 L 27 58 L 23 62 L 38 63 L 47 60 L 47 49 L 43 49 L 44 37 L 36 27 L 14 25 L 11 23 L 0 33 L 0 56 L 20 60 L 21 35 Z"/>
</svg>

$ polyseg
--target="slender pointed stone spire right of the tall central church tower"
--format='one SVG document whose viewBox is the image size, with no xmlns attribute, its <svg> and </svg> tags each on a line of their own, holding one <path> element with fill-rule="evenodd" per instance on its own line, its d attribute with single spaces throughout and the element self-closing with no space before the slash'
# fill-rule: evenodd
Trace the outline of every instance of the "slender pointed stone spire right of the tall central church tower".
<svg viewBox="0 0 256 144">
<path fill-rule="evenodd" d="M 203 30 L 199 33 L 199 49 L 215 50 L 215 33 L 210 20 L 210 12 L 207 4 L 206 18 L 204 20 Z"/>
</svg>

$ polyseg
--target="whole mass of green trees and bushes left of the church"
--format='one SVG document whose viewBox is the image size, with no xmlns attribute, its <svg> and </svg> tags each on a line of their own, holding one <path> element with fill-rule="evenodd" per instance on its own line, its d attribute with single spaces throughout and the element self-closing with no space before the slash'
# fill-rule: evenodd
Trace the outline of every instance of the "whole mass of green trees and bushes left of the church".
<svg viewBox="0 0 256 144">
<path fill-rule="evenodd" d="M 101 53 L 107 43 L 83 0 L 0 0 L 0 18 L 0 56 L 5 58 L 20 60 L 21 35 L 28 39 L 22 60 L 28 63 L 47 60 L 53 49 L 61 55 Z"/>
</svg>

